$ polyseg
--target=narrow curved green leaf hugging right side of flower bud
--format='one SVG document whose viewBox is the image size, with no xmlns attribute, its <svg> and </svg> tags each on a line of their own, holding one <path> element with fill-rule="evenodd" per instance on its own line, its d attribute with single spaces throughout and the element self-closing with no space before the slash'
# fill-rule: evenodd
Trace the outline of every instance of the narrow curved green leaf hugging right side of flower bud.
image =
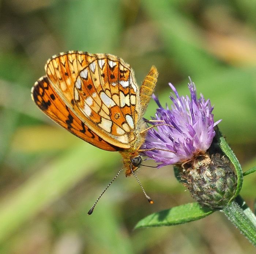
<svg viewBox="0 0 256 254">
<path fill-rule="evenodd" d="M 222 136 L 221 132 L 219 131 L 218 126 L 215 127 L 215 132 L 216 132 L 216 137 L 217 137 L 218 143 L 219 143 L 222 151 L 229 158 L 229 160 L 232 162 L 232 164 L 234 165 L 234 167 L 236 169 L 237 189 L 236 189 L 236 193 L 234 194 L 234 197 L 231 199 L 231 200 L 233 200 L 236 196 L 238 196 L 238 194 L 240 193 L 240 190 L 242 188 L 242 182 L 243 182 L 242 168 L 241 168 L 240 163 L 238 162 L 238 159 L 236 158 L 236 155 L 234 155 L 233 151 L 231 150 L 231 148 L 227 144 L 226 140 Z"/>
</svg>

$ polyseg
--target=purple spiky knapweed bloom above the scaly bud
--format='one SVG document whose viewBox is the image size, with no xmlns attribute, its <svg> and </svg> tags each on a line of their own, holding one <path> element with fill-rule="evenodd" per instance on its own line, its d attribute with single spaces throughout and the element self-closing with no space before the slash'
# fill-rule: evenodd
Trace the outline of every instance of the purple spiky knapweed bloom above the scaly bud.
<svg viewBox="0 0 256 254">
<path fill-rule="evenodd" d="M 169 83 L 174 95 L 170 96 L 173 102 L 171 109 L 166 105 L 164 109 L 158 98 L 153 98 L 159 108 L 152 120 L 154 125 L 168 124 L 157 126 L 148 130 L 146 141 L 142 149 L 155 148 L 152 151 L 145 151 L 144 154 L 150 159 L 154 159 L 158 167 L 170 164 L 182 164 L 206 152 L 215 136 L 214 126 L 221 120 L 214 122 L 211 102 L 204 99 L 200 94 L 197 99 L 195 84 L 189 78 L 188 88 L 191 99 L 186 96 L 180 96 L 176 88 Z M 160 122 L 161 121 L 161 122 Z M 163 122 L 164 121 L 164 122 Z M 165 151 L 162 151 L 162 150 Z"/>
</svg>

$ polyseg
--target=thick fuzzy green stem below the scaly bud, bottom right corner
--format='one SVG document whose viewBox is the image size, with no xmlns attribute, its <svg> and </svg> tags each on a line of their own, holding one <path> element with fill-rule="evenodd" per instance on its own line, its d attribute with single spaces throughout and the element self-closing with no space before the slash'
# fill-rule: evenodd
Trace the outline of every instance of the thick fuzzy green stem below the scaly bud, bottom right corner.
<svg viewBox="0 0 256 254">
<path fill-rule="evenodd" d="M 256 217 L 253 216 L 252 212 L 249 212 L 250 209 L 245 202 L 241 203 L 240 201 L 242 198 L 238 197 L 236 201 L 233 200 L 221 211 L 256 246 Z"/>
</svg>

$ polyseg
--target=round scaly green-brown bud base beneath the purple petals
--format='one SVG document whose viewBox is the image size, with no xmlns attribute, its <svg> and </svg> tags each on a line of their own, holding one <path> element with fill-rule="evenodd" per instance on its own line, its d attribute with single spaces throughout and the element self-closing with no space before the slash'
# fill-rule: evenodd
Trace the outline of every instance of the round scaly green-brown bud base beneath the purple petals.
<svg viewBox="0 0 256 254">
<path fill-rule="evenodd" d="M 199 155 L 178 168 L 181 182 L 202 206 L 223 208 L 236 193 L 237 176 L 226 156 Z"/>
</svg>

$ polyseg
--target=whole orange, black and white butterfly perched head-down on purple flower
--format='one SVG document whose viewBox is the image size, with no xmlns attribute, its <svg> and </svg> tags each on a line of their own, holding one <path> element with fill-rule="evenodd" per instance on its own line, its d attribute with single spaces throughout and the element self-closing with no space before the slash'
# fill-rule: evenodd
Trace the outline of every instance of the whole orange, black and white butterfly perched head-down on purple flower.
<svg viewBox="0 0 256 254">
<path fill-rule="evenodd" d="M 136 177 L 148 129 L 143 115 L 157 83 L 157 69 L 151 67 L 140 89 L 130 65 L 111 54 L 60 53 L 47 61 L 45 71 L 31 89 L 39 109 L 95 147 L 120 152 L 126 177 Z"/>
</svg>

